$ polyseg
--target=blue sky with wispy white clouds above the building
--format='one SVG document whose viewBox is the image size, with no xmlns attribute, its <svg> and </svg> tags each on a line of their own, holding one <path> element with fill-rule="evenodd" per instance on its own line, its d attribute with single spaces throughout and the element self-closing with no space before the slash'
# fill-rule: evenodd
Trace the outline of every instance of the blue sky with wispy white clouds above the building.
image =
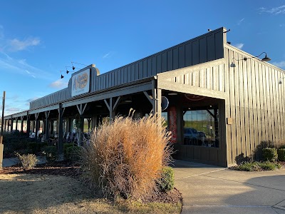
<svg viewBox="0 0 285 214">
<path fill-rule="evenodd" d="M 71 62 L 105 73 L 222 26 L 232 45 L 285 69 L 285 0 L 1 1 L 4 115 L 66 88 Z"/>
</svg>

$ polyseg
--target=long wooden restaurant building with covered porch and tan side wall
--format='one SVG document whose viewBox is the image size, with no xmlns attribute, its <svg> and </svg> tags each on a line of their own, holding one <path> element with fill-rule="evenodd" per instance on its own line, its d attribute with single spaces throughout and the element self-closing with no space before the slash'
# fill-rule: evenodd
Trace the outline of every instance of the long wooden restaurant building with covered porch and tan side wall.
<svg viewBox="0 0 285 214">
<path fill-rule="evenodd" d="M 259 158 L 264 144 L 285 140 L 285 86 L 279 83 L 285 72 L 227 44 L 225 31 L 103 74 L 87 66 L 72 74 L 68 88 L 31 101 L 28 111 L 5 116 L 5 124 L 23 130 L 26 123 L 36 136 L 41 128 L 46 139 L 56 134 L 62 151 L 76 117 L 91 129 L 130 108 L 136 117 L 153 109 L 167 119 L 176 158 L 223 166 Z"/>
</svg>

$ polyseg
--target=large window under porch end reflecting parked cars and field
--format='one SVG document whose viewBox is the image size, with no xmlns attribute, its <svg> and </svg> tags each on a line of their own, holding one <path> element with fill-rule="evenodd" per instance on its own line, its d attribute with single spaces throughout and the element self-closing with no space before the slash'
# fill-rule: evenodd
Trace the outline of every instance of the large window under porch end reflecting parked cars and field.
<svg viewBox="0 0 285 214">
<path fill-rule="evenodd" d="M 183 111 L 185 145 L 219 147 L 219 110 L 216 106 Z"/>
</svg>

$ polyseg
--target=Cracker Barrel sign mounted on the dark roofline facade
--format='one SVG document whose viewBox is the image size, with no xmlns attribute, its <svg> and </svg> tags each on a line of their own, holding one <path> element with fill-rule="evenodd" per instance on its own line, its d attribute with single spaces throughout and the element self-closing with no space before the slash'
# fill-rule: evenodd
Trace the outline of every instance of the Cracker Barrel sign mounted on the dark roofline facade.
<svg viewBox="0 0 285 214">
<path fill-rule="evenodd" d="M 74 74 L 71 86 L 71 96 L 88 93 L 90 91 L 90 69 Z"/>
</svg>

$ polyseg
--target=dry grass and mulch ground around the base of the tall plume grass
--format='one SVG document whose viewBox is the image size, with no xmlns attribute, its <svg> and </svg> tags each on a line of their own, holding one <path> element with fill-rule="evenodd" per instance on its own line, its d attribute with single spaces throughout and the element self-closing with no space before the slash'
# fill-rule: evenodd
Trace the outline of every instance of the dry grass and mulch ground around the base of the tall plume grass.
<svg viewBox="0 0 285 214">
<path fill-rule="evenodd" d="M 91 192 L 78 167 L 66 163 L 0 170 L 0 213 L 180 213 L 182 198 L 172 190 L 148 203 L 114 202 Z"/>
</svg>

